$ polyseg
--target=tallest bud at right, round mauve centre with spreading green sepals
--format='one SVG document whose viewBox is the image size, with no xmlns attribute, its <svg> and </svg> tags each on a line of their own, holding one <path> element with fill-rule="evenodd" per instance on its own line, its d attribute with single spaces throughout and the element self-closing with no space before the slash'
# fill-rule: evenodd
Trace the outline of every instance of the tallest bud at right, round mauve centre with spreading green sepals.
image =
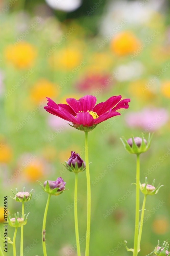
<svg viewBox="0 0 170 256">
<path fill-rule="evenodd" d="M 144 137 L 132 137 L 128 140 L 126 140 L 124 137 L 120 138 L 124 148 L 126 149 L 127 152 L 130 154 L 141 154 L 143 152 L 146 152 L 150 148 L 151 140 L 152 140 L 152 135 L 148 136 L 148 142 L 145 140 Z"/>
</svg>

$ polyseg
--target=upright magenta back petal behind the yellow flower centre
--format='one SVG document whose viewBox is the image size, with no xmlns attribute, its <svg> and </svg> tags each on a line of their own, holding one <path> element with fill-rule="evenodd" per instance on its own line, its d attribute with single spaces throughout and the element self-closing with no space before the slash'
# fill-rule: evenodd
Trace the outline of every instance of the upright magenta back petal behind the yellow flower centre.
<svg viewBox="0 0 170 256">
<path fill-rule="evenodd" d="M 79 100 L 68 98 L 66 101 L 76 113 L 79 111 L 86 112 L 87 110 L 90 111 L 94 108 L 96 104 L 96 97 L 92 95 L 85 95 Z"/>
</svg>

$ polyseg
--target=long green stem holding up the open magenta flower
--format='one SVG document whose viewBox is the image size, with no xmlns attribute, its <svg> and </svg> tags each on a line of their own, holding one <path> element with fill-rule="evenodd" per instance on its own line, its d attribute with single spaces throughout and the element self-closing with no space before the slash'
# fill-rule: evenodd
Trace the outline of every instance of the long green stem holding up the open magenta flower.
<svg viewBox="0 0 170 256">
<path fill-rule="evenodd" d="M 91 190 L 90 190 L 90 172 L 88 162 L 88 132 L 85 132 L 85 162 L 86 162 L 86 178 L 87 178 L 87 231 L 86 231 L 86 251 L 85 256 L 89 255 L 90 243 L 90 212 L 91 212 Z"/>
</svg>

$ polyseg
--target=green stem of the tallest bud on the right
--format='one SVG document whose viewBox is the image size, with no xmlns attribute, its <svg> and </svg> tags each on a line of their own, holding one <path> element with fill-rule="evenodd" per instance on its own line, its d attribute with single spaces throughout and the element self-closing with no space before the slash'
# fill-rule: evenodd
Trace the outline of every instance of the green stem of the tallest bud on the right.
<svg viewBox="0 0 170 256">
<path fill-rule="evenodd" d="M 140 155 L 136 159 L 136 213 L 135 213 L 135 236 L 133 256 L 138 255 L 138 233 L 139 233 L 139 178 L 140 178 Z"/>
</svg>

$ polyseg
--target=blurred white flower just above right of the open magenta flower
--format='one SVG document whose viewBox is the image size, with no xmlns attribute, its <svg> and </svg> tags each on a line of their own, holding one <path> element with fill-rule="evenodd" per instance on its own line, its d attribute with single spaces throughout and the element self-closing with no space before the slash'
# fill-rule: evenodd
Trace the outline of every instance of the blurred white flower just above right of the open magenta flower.
<svg viewBox="0 0 170 256">
<path fill-rule="evenodd" d="M 126 65 L 120 65 L 116 68 L 118 75 L 117 81 L 129 81 L 133 78 L 140 77 L 145 70 L 143 64 L 140 61 L 131 61 Z"/>
</svg>

